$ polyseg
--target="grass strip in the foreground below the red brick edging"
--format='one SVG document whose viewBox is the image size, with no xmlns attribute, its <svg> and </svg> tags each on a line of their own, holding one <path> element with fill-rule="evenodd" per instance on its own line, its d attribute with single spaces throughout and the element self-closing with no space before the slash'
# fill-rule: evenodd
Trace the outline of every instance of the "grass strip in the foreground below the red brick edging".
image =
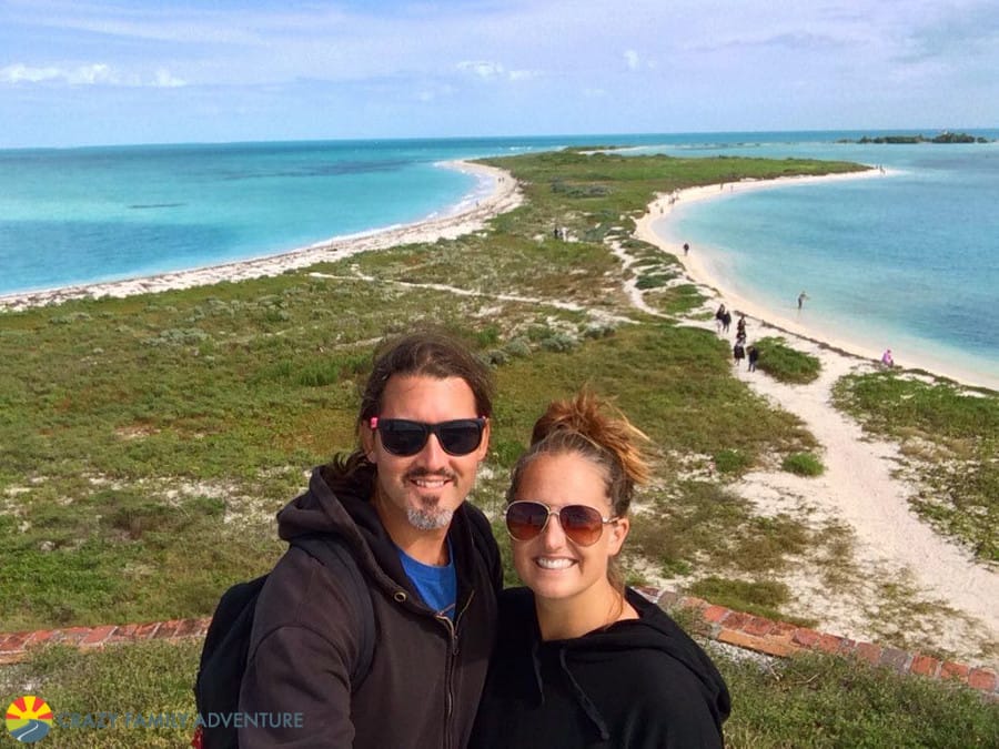
<svg viewBox="0 0 999 749">
<path fill-rule="evenodd" d="M 684 619 L 680 617 L 680 621 Z M 191 675 L 200 642 L 118 645 L 81 654 L 33 651 L 0 670 L 4 705 L 30 689 L 57 712 L 194 713 Z M 844 658 L 808 655 L 773 665 L 712 656 L 733 695 L 725 725 L 731 749 L 784 747 L 935 747 L 999 743 L 999 704 L 955 684 L 898 674 Z M 124 667 L 123 667 L 124 666 Z M 53 749 L 184 747 L 190 728 L 53 727 Z"/>
</svg>

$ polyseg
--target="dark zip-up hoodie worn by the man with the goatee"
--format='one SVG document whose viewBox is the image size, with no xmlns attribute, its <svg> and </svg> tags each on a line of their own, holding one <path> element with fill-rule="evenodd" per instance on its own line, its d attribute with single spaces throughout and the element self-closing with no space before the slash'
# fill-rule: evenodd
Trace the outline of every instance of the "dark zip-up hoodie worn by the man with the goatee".
<svg viewBox="0 0 999 749">
<path fill-rule="evenodd" d="M 403 571 L 370 502 L 373 470 L 352 485 L 326 475 L 316 468 L 309 490 L 279 513 L 279 535 L 330 533 L 346 541 L 371 593 L 377 630 L 371 669 L 360 686 L 350 684 L 362 623 L 350 580 L 289 548 L 256 606 L 240 711 L 301 713 L 302 726 L 242 728 L 240 747 L 461 749 L 496 631 L 502 571 L 488 520 L 466 502 L 447 532 L 457 576 L 452 625 Z"/>
</svg>

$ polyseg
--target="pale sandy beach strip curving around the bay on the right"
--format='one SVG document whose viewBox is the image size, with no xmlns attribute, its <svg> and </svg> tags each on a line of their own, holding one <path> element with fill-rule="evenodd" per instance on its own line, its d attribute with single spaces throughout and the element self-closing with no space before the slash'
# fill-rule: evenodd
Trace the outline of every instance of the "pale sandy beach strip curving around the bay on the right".
<svg viewBox="0 0 999 749">
<path fill-rule="evenodd" d="M 798 317 L 794 317 L 794 312 L 781 312 L 764 304 L 746 298 L 743 294 L 735 292 L 731 287 L 729 279 L 727 279 L 720 269 L 702 256 L 706 249 L 710 254 L 712 247 L 698 247 L 698 251 L 689 255 L 684 255 L 682 247 L 684 239 L 677 234 L 676 222 L 673 220 L 676 214 L 677 206 L 686 206 L 692 203 L 708 201 L 712 199 L 730 195 L 735 193 L 745 193 L 754 190 L 773 190 L 776 188 L 795 186 L 801 184 L 816 184 L 839 180 L 862 180 L 881 178 L 885 174 L 877 169 L 871 168 L 864 172 L 849 172 L 838 174 L 824 174 L 817 176 L 781 176 L 773 180 L 753 180 L 743 182 L 727 183 L 728 190 L 720 190 L 718 184 L 705 185 L 699 188 L 688 188 L 676 193 L 676 200 L 670 203 L 667 195 L 657 195 L 649 203 L 648 211 L 637 222 L 635 235 L 650 244 L 658 246 L 664 252 L 675 255 L 684 269 L 687 277 L 697 285 L 706 286 L 715 295 L 733 310 L 746 313 L 747 318 L 766 325 L 788 335 L 805 338 L 811 343 L 828 347 L 836 353 L 851 356 L 855 358 L 874 362 L 880 362 L 881 351 L 872 347 L 862 340 L 845 338 L 836 333 L 823 328 L 808 320 L 801 320 L 801 313 Z M 806 301 L 804 314 L 807 315 L 808 303 Z M 932 354 L 918 353 L 915 356 L 906 354 L 902 371 L 919 370 L 929 374 L 952 379 L 961 385 L 971 387 L 983 387 L 992 391 L 999 391 L 999 376 L 990 375 L 988 372 L 968 370 L 951 362 L 947 362 L 942 357 Z"/>
</svg>

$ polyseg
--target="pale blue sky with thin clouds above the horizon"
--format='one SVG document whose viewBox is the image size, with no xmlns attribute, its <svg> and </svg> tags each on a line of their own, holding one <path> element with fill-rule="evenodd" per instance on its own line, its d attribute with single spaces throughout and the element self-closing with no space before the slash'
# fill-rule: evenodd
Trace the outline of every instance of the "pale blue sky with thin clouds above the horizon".
<svg viewBox="0 0 999 749">
<path fill-rule="evenodd" d="M 0 148 L 997 126 L 995 0 L 0 0 Z"/>
</svg>

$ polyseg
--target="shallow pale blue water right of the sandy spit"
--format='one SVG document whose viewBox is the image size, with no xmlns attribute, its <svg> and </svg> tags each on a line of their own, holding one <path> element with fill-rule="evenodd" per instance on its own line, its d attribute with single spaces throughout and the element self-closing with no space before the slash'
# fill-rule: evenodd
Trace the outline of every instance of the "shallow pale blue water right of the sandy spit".
<svg viewBox="0 0 999 749">
<path fill-rule="evenodd" d="M 807 291 L 805 322 L 836 337 L 999 376 L 999 144 L 745 152 L 815 154 L 889 173 L 722 193 L 683 208 L 674 232 L 703 245 L 726 285 L 785 315 L 799 314 L 797 295 Z"/>
</svg>

